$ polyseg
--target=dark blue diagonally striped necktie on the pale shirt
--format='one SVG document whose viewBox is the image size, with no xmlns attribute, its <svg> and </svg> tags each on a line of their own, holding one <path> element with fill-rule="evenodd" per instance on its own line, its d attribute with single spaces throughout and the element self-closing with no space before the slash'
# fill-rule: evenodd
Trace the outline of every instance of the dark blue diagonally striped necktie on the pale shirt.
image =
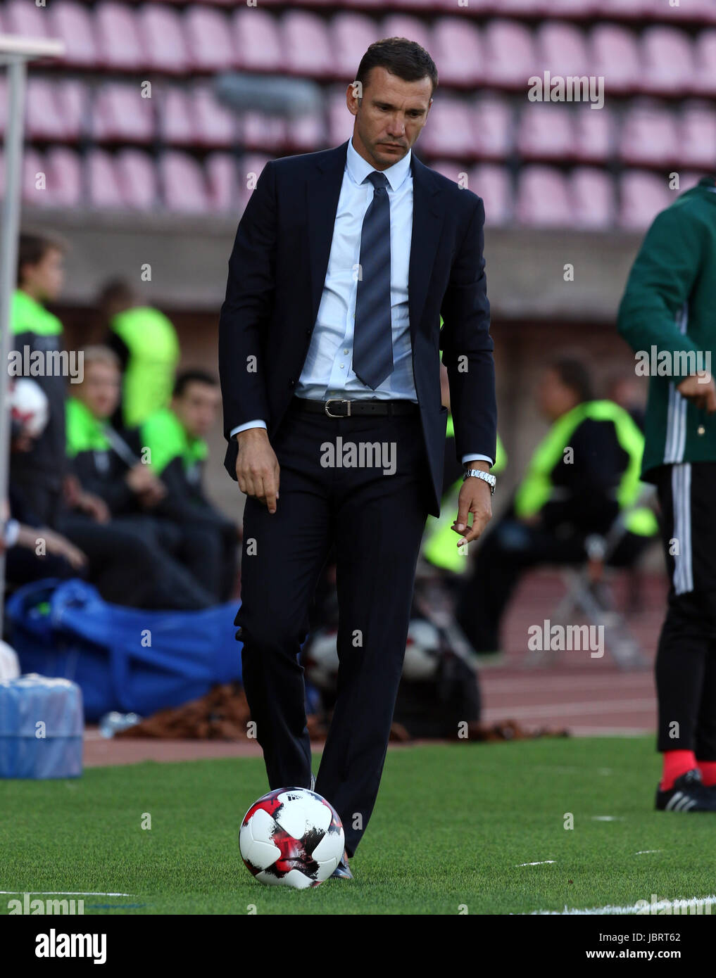
<svg viewBox="0 0 716 978">
<path fill-rule="evenodd" d="M 393 372 L 390 327 L 390 201 L 387 178 L 369 173 L 375 190 L 363 218 L 360 276 L 355 300 L 353 371 L 374 390 Z"/>
</svg>

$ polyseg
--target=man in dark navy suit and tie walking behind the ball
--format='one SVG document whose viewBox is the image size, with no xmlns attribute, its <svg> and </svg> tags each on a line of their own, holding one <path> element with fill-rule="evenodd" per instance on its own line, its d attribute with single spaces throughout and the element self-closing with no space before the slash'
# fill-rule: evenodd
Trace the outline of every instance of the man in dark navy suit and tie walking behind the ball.
<svg viewBox="0 0 716 978">
<path fill-rule="evenodd" d="M 371 45 L 346 92 L 351 140 L 263 169 L 221 309 L 225 466 L 248 497 L 236 624 L 272 789 L 313 783 L 297 654 L 336 545 L 338 692 L 315 788 L 343 822 L 343 877 L 378 795 L 425 518 L 439 512 L 440 349 L 471 473 L 456 546 L 480 535 L 494 490 L 484 208 L 411 152 L 436 85 L 420 45 Z"/>
</svg>

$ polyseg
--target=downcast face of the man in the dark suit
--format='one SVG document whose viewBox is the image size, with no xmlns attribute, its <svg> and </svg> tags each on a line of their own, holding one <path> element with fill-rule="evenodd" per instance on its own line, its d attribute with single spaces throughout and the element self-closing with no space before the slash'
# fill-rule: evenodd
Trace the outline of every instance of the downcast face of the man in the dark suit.
<svg viewBox="0 0 716 978">
<path fill-rule="evenodd" d="M 421 134 L 432 104 L 432 82 L 403 81 L 384 67 L 374 67 L 363 87 L 363 98 L 356 98 L 348 85 L 346 104 L 355 115 L 353 148 L 377 170 L 402 159 Z"/>
</svg>

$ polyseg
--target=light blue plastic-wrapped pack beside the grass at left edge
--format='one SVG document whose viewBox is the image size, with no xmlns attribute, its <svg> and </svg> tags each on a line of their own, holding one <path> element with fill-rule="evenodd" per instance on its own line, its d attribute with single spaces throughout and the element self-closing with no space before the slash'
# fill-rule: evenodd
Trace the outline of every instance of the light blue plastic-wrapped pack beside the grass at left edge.
<svg viewBox="0 0 716 978">
<path fill-rule="evenodd" d="M 0 682 L 0 778 L 79 778 L 82 693 L 45 676 Z"/>
</svg>

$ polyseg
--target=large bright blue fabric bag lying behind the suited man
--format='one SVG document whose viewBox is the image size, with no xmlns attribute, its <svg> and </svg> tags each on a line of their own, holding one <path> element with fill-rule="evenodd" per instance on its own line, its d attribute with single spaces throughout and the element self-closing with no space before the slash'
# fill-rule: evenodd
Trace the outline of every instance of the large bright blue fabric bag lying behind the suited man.
<svg viewBox="0 0 716 978">
<path fill-rule="evenodd" d="M 22 671 L 77 683 L 88 721 L 111 710 L 146 717 L 241 680 L 236 612 L 236 602 L 202 611 L 121 607 L 80 580 L 37 581 L 7 604 Z"/>
</svg>

